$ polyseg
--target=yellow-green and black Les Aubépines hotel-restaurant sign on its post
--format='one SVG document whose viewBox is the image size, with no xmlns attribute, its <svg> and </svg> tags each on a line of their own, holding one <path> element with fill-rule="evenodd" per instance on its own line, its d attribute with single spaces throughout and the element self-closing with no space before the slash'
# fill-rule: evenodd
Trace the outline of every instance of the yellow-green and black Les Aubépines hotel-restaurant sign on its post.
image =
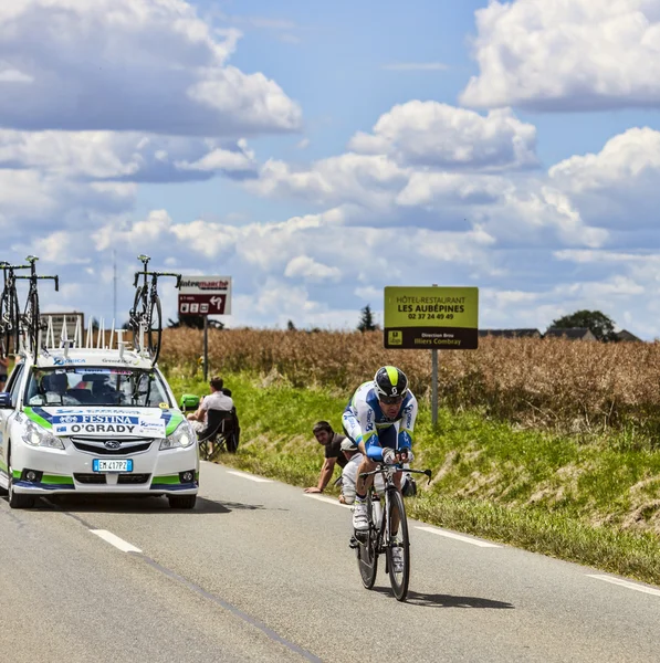
<svg viewBox="0 0 660 663">
<path fill-rule="evenodd" d="M 385 288 L 385 347 L 431 350 L 431 421 L 438 423 L 438 350 L 479 347 L 479 288 Z"/>
</svg>

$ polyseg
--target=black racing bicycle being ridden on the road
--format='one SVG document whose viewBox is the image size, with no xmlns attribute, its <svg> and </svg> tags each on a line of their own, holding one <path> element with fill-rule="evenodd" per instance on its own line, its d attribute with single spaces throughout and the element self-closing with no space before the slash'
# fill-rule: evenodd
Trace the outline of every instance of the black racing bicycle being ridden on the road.
<svg viewBox="0 0 660 663">
<path fill-rule="evenodd" d="M 385 552 L 386 573 L 392 593 L 398 601 L 405 601 L 408 596 L 408 582 L 410 580 L 410 540 L 408 538 L 408 519 L 401 493 L 397 490 L 394 475 L 397 472 L 410 472 L 425 474 L 431 481 L 430 470 L 404 470 L 397 463 L 379 463 L 373 472 L 364 472 L 360 476 L 381 474 L 385 482 L 385 491 L 377 495 L 374 487 L 367 493 L 367 519 L 369 527 L 365 532 L 356 532 L 352 540 L 352 547 L 357 554 L 357 564 L 363 585 L 371 589 L 378 572 L 378 555 Z M 381 507 L 385 499 L 385 508 Z M 398 548 L 400 554 L 394 554 Z"/>
</svg>

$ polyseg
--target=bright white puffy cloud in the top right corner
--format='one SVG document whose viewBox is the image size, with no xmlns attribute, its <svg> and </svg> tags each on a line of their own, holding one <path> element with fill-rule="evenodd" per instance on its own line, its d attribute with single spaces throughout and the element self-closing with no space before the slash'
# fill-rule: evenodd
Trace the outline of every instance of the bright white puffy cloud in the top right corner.
<svg viewBox="0 0 660 663">
<path fill-rule="evenodd" d="M 660 105 L 658 0 L 491 0 L 461 103 L 593 110 Z"/>
</svg>

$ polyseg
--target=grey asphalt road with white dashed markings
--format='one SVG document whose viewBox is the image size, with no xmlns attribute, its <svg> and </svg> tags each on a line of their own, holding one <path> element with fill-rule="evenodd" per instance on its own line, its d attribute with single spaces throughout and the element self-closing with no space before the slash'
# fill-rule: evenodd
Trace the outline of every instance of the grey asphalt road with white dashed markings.
<svg viewBox="0 0 660 663">
<path fill-rule="evenodd" d="M 209 463 L 201 481 L 193 512 L 1 499 L 0 661 L 660 660 L 659 588 L 410 522 L 399 603 L 385 565 L 363 588 L 334 499 Z"/>
</svg>

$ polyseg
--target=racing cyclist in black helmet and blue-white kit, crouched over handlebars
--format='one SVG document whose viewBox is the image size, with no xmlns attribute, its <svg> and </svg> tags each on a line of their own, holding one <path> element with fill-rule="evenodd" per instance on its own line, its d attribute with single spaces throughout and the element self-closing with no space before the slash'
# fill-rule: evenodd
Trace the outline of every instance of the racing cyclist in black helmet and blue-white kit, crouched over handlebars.
<svg viewBox="0 0 660 663">
<path fill-rule="evenodd" d="M 374 476 L 362 477 L 363 472 L 376 470 L 376 462 L 409 463 L 412 461 L 412 431 L 417 418 L 417 399 L 408 389 L 406 373 L 395 366 L 384 366 L 373 381 L 357 388 L 343 415 L 344 432 L 363 453 L 357 472 L 353 527 L 368 528 L 367 491 Z M 395 474 L 401 490 L 401 474 Z M 399 550 L 395 548 L 395 550 Z"/>
</svg>

